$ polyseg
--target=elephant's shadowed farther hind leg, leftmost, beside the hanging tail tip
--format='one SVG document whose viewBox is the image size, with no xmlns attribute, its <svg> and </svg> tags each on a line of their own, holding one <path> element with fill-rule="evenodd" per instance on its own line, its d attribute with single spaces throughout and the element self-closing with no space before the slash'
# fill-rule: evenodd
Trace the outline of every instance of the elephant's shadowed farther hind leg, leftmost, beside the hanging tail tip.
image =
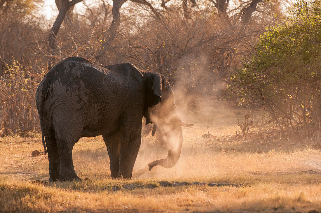
<svg viewBox="0 0 321 213">
<path fill-rule="evenodd" d="M 54 182 L 59 180 L 59 154 L 56 143 L 56 137 L 53 130 L 49 130 L 48 128 L 44 131 L 47 152 L 48 152 L 48 160 L 49 160 L 49 181 Z"/>
</svg>

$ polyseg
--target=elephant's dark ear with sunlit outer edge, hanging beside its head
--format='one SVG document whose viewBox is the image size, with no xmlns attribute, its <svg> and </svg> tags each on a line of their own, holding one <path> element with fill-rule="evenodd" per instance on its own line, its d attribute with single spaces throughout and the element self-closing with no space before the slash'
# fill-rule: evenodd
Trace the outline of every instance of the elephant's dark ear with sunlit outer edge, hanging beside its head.
<svg viewBox="0 0 321 213">
<path fill-rule="evenodd" d="M 145 94 L 145 109 L 144 117 L 146 118 L 146 124 L 152 123 L 148 116 L 148 108 L 157 105 L 161 101 L 162 95 L 162 77 L 159 73 L 148 78 L 146 84 Z"/>
</svg>

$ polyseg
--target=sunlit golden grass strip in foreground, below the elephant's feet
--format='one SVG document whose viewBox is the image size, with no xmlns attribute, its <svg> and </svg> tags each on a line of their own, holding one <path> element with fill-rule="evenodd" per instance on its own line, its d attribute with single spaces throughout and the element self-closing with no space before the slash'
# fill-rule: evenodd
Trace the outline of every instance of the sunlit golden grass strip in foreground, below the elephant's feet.
<svg viewBox="0 0 321 213">
<path fill-rule="evenodd" d="M 106 180 L 110 184 L 113 180 Z M 118 181 L 124 182 L 124 181 Z M 135 182 L 135 181 L 134 181 Z M 0 181 L 3 211 L 301 211 L 321 209 L 321 184 L 264 184 L 235 188 L 230 186 L 156 187 L 100 192 L 95 183 L 34 185 L 30 182 Z M 144 183 L 147 184 L 147 183 Z"/>
</svg>

